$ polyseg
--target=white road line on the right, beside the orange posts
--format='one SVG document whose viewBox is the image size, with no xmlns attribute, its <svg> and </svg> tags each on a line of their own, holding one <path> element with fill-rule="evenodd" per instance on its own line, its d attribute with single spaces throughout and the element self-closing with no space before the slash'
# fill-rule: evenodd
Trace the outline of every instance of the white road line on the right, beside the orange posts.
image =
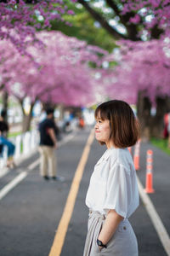
<svg viewBox="0 0 170 256">
<path fill-rule="evenodd" d="M 154 225 L 157 235 L 159 236 L 162 246 L 164 247 L 166 253 L 168 256 L 170 256 L 170 238 L 167 234 L 167 230 L 165 229 L 164 225 L 161 222 L 161 218 L 159 217 L 158 213 L 156 212 L 156 208 L 154 207 L 152 201 L 150 200 L 150 197 L 145 194 L 144 187 L 142 183 L 138 179 L 139 184 L 139 194 L 140 198 L 144 203 L 144 207 L 146 208 L 146 211 L 148 212 L 151 222 Z"/>
</svg>

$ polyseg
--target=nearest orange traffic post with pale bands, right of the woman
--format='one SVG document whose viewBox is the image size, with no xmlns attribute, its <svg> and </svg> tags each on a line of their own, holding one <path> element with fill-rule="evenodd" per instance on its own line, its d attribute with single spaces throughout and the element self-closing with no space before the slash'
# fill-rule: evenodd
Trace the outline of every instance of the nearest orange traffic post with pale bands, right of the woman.
<svg viewBox="0 0 170 256">
<path fill-rule="evenodd" d="M 154 193 L 155 190 L 153 189 L 153 170 L 152 170 L 152 163 L 153 163 L 153 151 L 147 151 L 147 158 L 146 158 L 146 180 L 145 180 L 145 192 L 150 194 Z"/>
</svg>

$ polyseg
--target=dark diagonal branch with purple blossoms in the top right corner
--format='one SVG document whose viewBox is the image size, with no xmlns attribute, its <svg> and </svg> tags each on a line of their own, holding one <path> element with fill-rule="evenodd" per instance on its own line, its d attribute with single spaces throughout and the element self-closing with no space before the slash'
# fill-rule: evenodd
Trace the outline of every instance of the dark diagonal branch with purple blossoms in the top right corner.
<svg viewBox="0 0 170 256">
<path fill-rule="evenodd" d="M 140 41 L 169 35 L 169 0 L 77 0 L 113 38 Z M 98 26 L 99 26 L 98 25 Z"/>
</svg>

